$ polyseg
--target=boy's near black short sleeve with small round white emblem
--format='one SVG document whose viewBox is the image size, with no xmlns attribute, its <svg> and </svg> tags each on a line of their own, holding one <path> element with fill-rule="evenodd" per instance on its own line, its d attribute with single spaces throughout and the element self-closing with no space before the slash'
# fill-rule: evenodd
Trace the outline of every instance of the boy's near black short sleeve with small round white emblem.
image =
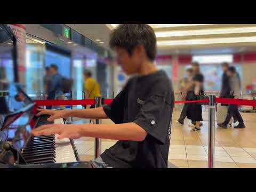
<svg viewBox="0 0 256 192">
<path fill-rule="evenodd" d="M 140 109 L 134 123 L 163 145 L 169 134 L 173 105 L 165 97 L 151 95 Z"/>
</svg>

